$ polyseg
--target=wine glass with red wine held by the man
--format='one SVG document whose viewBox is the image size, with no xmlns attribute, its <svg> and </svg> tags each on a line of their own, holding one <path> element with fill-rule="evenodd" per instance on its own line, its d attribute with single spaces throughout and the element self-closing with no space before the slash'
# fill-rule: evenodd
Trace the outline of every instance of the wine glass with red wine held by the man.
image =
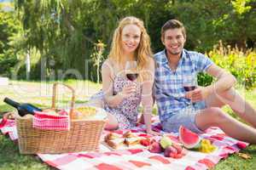
<svg viewBox="0 0 256 170">
<path fill-rule="evenodd" d="M 187 77 L 183 77 L 183 88 L 186 92 L 195 90 L 197 88 L 197 75 L 191 74 Z M 193 105 L 192 100 L 190 99 L 190 105 Z"/>
</svg>

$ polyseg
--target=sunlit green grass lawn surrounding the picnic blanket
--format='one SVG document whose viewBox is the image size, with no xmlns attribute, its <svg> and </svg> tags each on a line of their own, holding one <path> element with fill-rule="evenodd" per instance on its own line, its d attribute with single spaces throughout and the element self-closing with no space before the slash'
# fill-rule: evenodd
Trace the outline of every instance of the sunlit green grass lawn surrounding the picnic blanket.
<svg viewBox="0 0 256 170">
<path fill-rule="evenodd" d="M 88 81 L 67 81 L 67 84 L 76 89 L 76 102 L 84 103 L 91 94 L 95 94 L 101 85 Z M 42 82 L 11 82 L 9 87 L 0 87 L 0 111 L 11 111 L 12 107 L 3 103 L 4 97 L 15 99 L 23 103 L 31 103 L 39 107 L 49 107 L 51 104 L 52 83 Z M 242 88 L 239 88 L 242 89 Z M 60 87 L 60 95 L 57 105 L 65 106 L 69 101 L 70 95 L 66 89 Z M 256 107 L 256 90 L 243 91 L 239 90 L 254 107 Z M 224 111 L 235 116 L 229 108 L 224 108 Z M 2 115 L 0 114 L 0 118 Z M 236 117 L 236 116 L 235 116 Z M 238 117 L 236 117 L 238 118 Z M 54 169 L 44 164 L 36 156 L 20 155 L 18 145 L 12 142 L 8 137 L 0 134 L 0 170 L 9 169 Z M 252 156 L 252 159 L 243 159 L 237 154 L 229 156 L 227 159 L 220 161 L 214 168 L 220 169 L 256 169 L 256 145 L 250 145 L 246 150 L 241 150 L 241 153 L 246 153 Z"/>
</svg>

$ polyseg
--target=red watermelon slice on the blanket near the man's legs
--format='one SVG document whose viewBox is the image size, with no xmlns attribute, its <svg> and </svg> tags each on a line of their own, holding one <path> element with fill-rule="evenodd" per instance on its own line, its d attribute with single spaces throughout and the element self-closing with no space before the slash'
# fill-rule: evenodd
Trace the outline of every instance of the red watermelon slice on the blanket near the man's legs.
<svg viewBox="0 0 256 170">
<path fill-rule="evenodd" d="M 198 134 L 191 132 L 188 128 L 180 126 L 178 139 L 187 149 L 194 149 L 200 145 L 201 138 Z"/>
</svg>

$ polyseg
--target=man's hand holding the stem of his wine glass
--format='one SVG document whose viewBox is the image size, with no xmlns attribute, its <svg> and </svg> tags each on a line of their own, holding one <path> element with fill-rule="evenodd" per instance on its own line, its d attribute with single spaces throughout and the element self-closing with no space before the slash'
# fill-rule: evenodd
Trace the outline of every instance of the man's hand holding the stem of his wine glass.
<svg viewBox="0 0 256 170">
<path fill-rule="evenodd" d="M 198 102 L 207 99 L 209 94 L 209 89 L 207 87 L 197 87 L 195 90 L 187 92 L 185 98 L 191 99 L 192 102 Z"/>
</svg>

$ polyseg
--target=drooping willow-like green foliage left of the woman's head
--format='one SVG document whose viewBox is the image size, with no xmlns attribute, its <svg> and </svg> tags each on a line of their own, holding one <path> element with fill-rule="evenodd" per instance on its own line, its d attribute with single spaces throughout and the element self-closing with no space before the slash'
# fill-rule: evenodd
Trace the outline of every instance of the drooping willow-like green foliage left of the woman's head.
<svg viewBox="0 0 256 170">
<path fill-rule="evenodd" d="M 89 56 L 96 37 L 100 37 L 99 34 L 104 31 L 106 39 L 110 34 L 106 29 L 109 24 L 106 20 L 114 20 L 114 15 L 109 16 L 112 13 L 106 8 L 108 4 L 67 0 L 16 1 L 15 4 L 19 9 L 20 19 L 23 20 L 24 29 L 30 30 L 26 34 L 28 44 L 38 48 L 46 61 L 47 70 L 56 73 L 59 70 L 76 69 L 84 77 L 87 75 L 84 72 L 86 66 L 89 67 L 88 71 L 93 70 Z M 101 10 L 98 8 L 105 8 L 106 11 L 98 13 Z M 97 18 L 93 19 L 94 15 Z M 116 20 L 113 21 L 115 22 Z M 51 61 L 55 62 L 54 68 L 49 65 Z M 38 63 L 38 68 L 40 65 L 41 63 Z M 47 76 L 50 76 L 49 74 Z M 89 74 L 89 77 L 92 75 Z"/>
</svg>

